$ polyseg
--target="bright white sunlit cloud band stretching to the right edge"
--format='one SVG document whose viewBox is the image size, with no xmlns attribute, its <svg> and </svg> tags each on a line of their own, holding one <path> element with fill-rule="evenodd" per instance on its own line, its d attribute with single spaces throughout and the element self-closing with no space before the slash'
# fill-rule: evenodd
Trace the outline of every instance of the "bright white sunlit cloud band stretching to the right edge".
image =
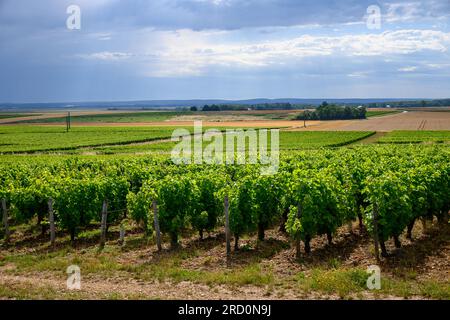
<svg viewBox="0 0 450 320">
<path fill-rule="evenodd" d="M 450 33 L 435 30 L 397 30 L 379 34 L 340 36 L 301 35 L 273 41 L 218 41 L 218 34 L 180 30 L 157 32 L 159 49 L 142 48 L 137 61 L 147 64 L 147 76 L 198 76 L 211 69 L 259 70 L 284 68 L 306 58 L 383 57 L 420 52 L 445 53 L 450 48 Z M 227 35 L 222 34 L 222 37 Z M 151 43 L 151 42 L 150 42 Z M 151 52 L 150 55 L 145 53 Z M 407 71 L 407 70 L 404 70 Z M 362 76 L 361 73 L 350 76 Z"/>
</svg>

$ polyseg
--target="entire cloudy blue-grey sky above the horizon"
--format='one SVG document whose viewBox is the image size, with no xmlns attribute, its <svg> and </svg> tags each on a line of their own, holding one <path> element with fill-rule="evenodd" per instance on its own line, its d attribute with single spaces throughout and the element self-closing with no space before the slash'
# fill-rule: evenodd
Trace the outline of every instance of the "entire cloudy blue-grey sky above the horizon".
<svg viewBox="0 0 450 320">
<path fill-rule="evenodd" d="M 450 0 L 0 0 L 0 102 L 449 98 L 449 49 Z"/>
</svg>

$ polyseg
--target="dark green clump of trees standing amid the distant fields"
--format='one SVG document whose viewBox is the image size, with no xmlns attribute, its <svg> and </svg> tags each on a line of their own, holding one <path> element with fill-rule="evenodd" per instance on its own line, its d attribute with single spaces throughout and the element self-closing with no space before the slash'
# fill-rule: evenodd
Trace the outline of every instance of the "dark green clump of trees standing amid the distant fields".
<svg viewBox="0 0 450 320">
<path fill-rule="evenodd" d="M 335 104 L 323 102 L 316 110 L 299 114 L 297 120 L 349 120 L 366 119 L 366 108 L 359 107 L 341 107 Z"/>
</svg>

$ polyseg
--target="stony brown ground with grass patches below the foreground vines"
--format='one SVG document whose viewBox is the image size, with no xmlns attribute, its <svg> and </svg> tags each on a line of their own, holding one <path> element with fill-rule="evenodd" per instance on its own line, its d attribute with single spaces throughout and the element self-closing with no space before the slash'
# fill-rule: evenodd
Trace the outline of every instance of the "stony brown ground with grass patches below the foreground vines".
<svg viewBox="0 0 450 320">
<path fill-rule="evenodd" d="M 73 249 L 60 235 L 53 251 L 47 237 L 17 231 L 15 245 L 0 250 L 0 299 L 450 299 L 449 226 L 425 234 L 418 223 L 413 241 L 402 238 L 402 249 L 389 241 L 381 291 L 357 279 L 376 260 L 371 239 L 356 224 L 352 232 L 341 228 L 332 245 L 316 237 L 312 253 L 300 260 L 278 229 L 262 243 L 254 236 L 241 240 L 228 262 L 220 231 L 203 241 L 187 236 L 180 249 L 161 253 L 137 231 L 120 248 L 113 229 L 103 251 L 94 231 Z M 81 268 L 80 291 L 66 288 L 65 268 L 74 263 Z"/>
</svg>

